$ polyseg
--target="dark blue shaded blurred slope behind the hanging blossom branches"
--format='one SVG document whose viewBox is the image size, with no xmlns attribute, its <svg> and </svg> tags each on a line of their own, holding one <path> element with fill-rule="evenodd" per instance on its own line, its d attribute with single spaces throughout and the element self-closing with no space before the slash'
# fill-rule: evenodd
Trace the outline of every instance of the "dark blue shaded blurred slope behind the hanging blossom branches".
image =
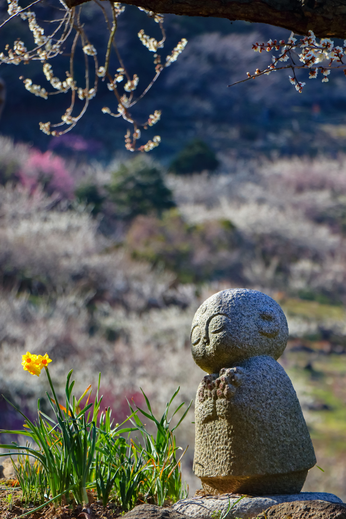
<svg viewBox="0 0 346 519">
<path fill-rule="evenodd" d="M 6 0 L 1 0 L 3 16 L 6 6 Z M 52 8 L 45 4 L 37 8 L 37 13 L 38 20 L 49 19 Z M 86 4 L 82 21 L 91 43 L 103 51 L 106 29 L 101 9 L 94 3 Z M 318 153 L 335 157 L 345 151 L 346 94 L 342 73 L 331 74 L 329 83 L 322 84 L 321 78 L 308 80 L 307 74 L 302 72 L 299 77 L 307 81 L 302 94 L 290 85 L 285 71 L 227 88 L 233 81 L 246 77 L 246 72 L 254 72 L 257 67 L 262 69 L 270 62 L 270 54 L 252 50 L 253 43 L 287 38 L 287 31 L 262 24 L 173 15 L 165 17 L 165 27 L 167 43 L 163 52 L 169 53 L 182 37 L 189 43 L 177 62 L 163 72 L 134 109 L 134 115 L 140 120 L 145 120 L 154 110 L 162 110 L 161 121 L 155 126 L 155 133 L 162 138 L 155 152 L 160 160 L 167 163 L 195 136 L 211 144 L 215 151 L 235 158 L 258 154 L 315 156 Z M 130 73 L 140 77 L 139 91 L 153 73 L 152 54 L 137 37 L 140 29 L 157 36 L 157 24 L 137 8 L 127 6 L 119 17 L 117 42 Z M 2 46 L 19 36 L 24 41 L 31 38 L 20 20 L 2 31 Z M 64 74 L 66 57 L 54 59 L 53 67 L 58 76 Z M 82 81 L 82 64 L 78 65 L 78 61 L 76 73 Z M 50 121 L 59 122 L 67 107 L 67 97 L 36 98 L 18 79 L 21 75 L 29 76 L 34 83 L 47 88 L 41 64 L 3 65 L 0 75 L 8 91 L 0 120 L 2 134 L 12 136 L 17 142 L 31 142 L 41 151 L 54 149 L 79 160 L 96 157 L 108 161 L 116 152 L 123 151 L 126 123 L 101 112 L 105 105 L 112 108 L 112 93 L 106 83 L 100 84 L 98 95 L 91 100 L 77 127 L 62 138 L 54 139 L 39 131 L 38 122 L 48 120 L 47 114 Z M 77 101 L 76 106 L 79 104 Z"/>
</svg>

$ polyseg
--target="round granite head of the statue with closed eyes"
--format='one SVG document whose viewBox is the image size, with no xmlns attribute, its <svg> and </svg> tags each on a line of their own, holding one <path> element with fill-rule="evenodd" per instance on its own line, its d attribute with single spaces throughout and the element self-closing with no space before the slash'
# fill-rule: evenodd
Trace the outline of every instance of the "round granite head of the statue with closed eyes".
<svg viewBox="0 0 346 519">
<path fill-rule="evenodd" d="M 259 355 L 277 360 L 288 338 L 281 307 L 257 290 L 229 289 L 206 299 L 191 328 L 192 357 L 207 373 Z"/>
</svg>

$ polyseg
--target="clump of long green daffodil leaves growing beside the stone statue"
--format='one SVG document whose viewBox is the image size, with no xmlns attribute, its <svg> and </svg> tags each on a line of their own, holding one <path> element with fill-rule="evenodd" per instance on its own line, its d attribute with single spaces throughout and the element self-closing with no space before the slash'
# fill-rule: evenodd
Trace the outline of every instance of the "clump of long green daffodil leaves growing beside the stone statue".
<svg viewBox="0 0 346 519">
<path fill-rule="evenodd" d="M 23 501 L 38 505 L 27 513 L 33 513 L 50 502 L 54 507 L 62 504 L 87 506 L 90 492 L 97 495 L 104 507 L 113 501 L 125 511 L 140 502 L 163 506 L 165 502 L 175 502 L 187 495 L 188 489 L 186 484 L 182 485 L 181 476 L 181 459 L 186 449 L 177 459 L 177 451 L 182 448 L 176 446 L 173 432 L 185 418 L 192 402 L 175 427 L 170 428 L 171 419 L 184 403 L 168 419 L 170 405 L 179 388 L 160 420 L 154 416 L 142 391 L 148 411 L 133 409 L 129 404 L 129 416 L 119 425 L 114 424 L 109 407 L 101 412 L 101 374 L 95 400 L 89 403 L 91 386 L 77 399 L 73 394 L 71 370 L 66 378 L 63 406 L 58 403 L 48 367 L 45 371 L 52 392 L 47 396 L 53 416 L 40 410 L 38 400 L 37 420 L 31 421 L 15 407 L 24 418 L 24 429 L 0 431 L 28 438 L 26 445 L 15 441 L 0 445 L 0 448 L 9 450 L 0 456 L 18 455 L 18 461 L 13 465 Z M 82 404 L 84 399 L 87 399 L 86 403 Z M 156 437 L 146 430 L 137 416 L 139 411 L 154 422 Z M 132 438 L 135 431 L 140 432 L 140 439 Z M 33 447 L 33 444 L 37 446 Z"/>
</svg>

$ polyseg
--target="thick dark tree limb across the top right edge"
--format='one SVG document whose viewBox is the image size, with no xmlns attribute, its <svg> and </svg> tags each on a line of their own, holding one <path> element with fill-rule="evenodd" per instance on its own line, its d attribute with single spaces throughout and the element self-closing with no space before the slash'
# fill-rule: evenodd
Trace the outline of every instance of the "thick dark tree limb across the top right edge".
<svg viewBox="0 0 346 519">
<path fill-rule="evenodd" d="M 68 0 L 70 7 L 86 0 Z M 305 35 L 346 38 L 346 0 L 123 0 L 150 11 L 269 23 Z"/>
</svg>

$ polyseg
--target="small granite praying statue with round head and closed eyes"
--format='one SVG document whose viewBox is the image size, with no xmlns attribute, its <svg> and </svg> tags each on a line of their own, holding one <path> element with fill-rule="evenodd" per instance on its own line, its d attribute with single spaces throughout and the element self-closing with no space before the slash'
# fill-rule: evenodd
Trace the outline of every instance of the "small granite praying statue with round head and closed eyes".
<svg viewBox="0 0 346 519">
<path fill-rule="evenodd" d="M 316 463 L 296 392 L 276 359 L 287 321 L 255 290 L 214 294 L 192 322 L 192 357 L 209 373 L 196 397 L 193 470 L 207 494 L 298 493 Z"/>
</svg>

